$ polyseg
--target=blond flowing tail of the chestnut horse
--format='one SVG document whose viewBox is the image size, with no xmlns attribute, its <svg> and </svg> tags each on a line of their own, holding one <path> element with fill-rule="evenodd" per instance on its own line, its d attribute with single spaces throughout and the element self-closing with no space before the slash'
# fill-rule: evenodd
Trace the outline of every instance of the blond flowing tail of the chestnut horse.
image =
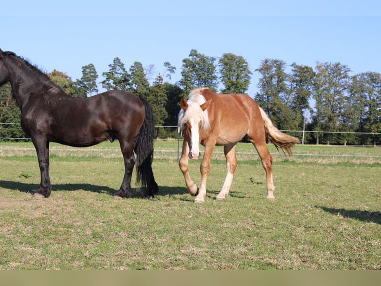
<svg viewBox="0 0 381 286">
<path fill-rule="evenodd" d="M 299 139 L 280 132 L 278 128 L 276 128 L 271 122 L 266 112 L 261 107 L 259 107 L 259 110 L 261 111 L 266 135 L 269 140 L 277 147 L 277 149 L 281 148 L 283 151 L 286 150 L 286 152 L 291 155 L 291 147 L 295 144 L 300 143 Z"/>
</svg>

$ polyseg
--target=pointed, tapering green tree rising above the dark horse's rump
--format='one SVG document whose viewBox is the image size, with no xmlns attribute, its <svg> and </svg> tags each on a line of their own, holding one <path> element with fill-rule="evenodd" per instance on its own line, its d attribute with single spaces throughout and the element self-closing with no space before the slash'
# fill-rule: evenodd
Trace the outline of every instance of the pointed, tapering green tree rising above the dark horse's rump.
<svg viewBox="0 0 381 286">
<path fill-rule="evenodd" d="M 109 64 L 108 67 L 110 70 L 102 73 L 102 76 L 105 77 L 100 82 L 102 87 L 106 90 L 127 90 L 130 86 L 130 75 L 124 68 L 122 61 L 118 57 L 115 57 L 112 64 Z"/>
</svg>

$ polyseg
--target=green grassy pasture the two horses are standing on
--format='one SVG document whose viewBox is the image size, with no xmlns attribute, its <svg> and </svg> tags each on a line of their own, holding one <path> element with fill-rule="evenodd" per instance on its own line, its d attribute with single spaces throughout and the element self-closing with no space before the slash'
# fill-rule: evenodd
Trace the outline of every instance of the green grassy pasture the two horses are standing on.
<svg viewBox="0 0 381 286">
<path fill-rule="evenodd" d="M 0 270 L 380 270 L 381 149 L 298 145 L 288 157 L 269 148 L 275 201 L 254 147 L 239 143 L 229 197 L 215 200 L 226 174 L 217 147 L 206 200 L 195 204 L 177 142 L 155 142 L 154 200 L 138 189 L 113 199 L 118 143 L 51 143 L 52 194 L 32 199 L 32 143 L 0 143 Z M 190 164 L 199 183 L 200 160 Z"/>
</svg>

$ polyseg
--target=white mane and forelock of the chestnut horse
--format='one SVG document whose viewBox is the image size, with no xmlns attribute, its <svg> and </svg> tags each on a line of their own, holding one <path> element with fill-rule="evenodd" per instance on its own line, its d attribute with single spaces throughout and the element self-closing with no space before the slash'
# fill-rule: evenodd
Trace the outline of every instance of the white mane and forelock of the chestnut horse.
<svg viewBox="0 0 381 286">
<path fill-rule="evenodd" d="M 201 129 L 207 130 L 210 128 L 208 112 L 202 111 L 200 105 L 206 102 L 205 98 L 201 94 L 204 88 L 196 88 L 189 93 L 188 109 L 186 112 L 181 110 L 179 113 L 178 126 L 183 131 L 184 124 L 193 119 L 195 122 L 201 121 Z"/>
</svg>

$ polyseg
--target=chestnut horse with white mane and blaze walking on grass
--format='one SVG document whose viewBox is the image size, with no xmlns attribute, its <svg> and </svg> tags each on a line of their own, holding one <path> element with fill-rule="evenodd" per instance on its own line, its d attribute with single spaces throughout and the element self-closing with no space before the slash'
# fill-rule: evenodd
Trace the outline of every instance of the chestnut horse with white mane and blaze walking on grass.
<svg viewBox="0 0 381 286">
<path fill-rule="evenodd" d="M 300 143 L 295 137 L 280 132 L 257 103 L 244 94 L 216 94 L 208 88 L 191 91 L 188 102 L 180 102 L 178 125 L 184 134 L 183 150 L 179 166 L 185 183 L 195 202 L 203 202 L 206 196 L 206 178 L 210 170 L 210 159 L 214 146 L 224 146 L 227 174 L 216 199 L 224 199 L 229 194 L 233 175 L 237 167 L 235 147 L 247 136 L 254 144 L 266 170 L 267 195 L 274 199 L 273 158 L 266 145 L 266 135 L 277 148 L 291 154 L 294 144 Z M 205 146 L 202 158 L 201 185 L 195 185 L 189 174 L 189 159 L 200 156 L 199 144 Z"/>
</svg>

